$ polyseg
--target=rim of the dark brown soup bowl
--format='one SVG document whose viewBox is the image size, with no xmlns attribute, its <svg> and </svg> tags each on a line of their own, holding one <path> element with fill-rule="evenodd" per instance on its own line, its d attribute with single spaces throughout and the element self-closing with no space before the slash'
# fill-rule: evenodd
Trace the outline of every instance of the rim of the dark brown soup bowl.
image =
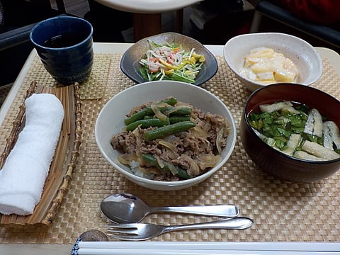
<svg viewBox="0 0 340 255">
<path fill-rule="evenodd" d="M 293 160 L 295 162 L 303 162 L 305 164 L 329 164 L 329 163 L 332 163 L 332 162 L 339 162 L 340 161 L 340 157 L 338 159 L 331 159 L 331 160 L 322 160 L 322 161 L 312 161 L 312 160 L 308 160 L 308 159 L 298 159 L 297 157 L 293 157 L 293 156 L 290 156 L 288 154 L 285 154 L 283 152 L 280 152 L 278 149 L 274 149 L 273 147 L 271 147 L 270 145 L 267 145 L 266 142 L 263 142 L 263 140 L 261 140 L 261 138 L 259 137 L 259 135 L 256 135 L 256 132 L 253 130 L 253 128 L 251 128 L 251 125 L 249 124 L 249 121 L 248 121 L 248 118 L 247 116 L 249 115 L 249 113 L 246 113 L 246 106 L 248 106 L 249 104 L 249 101 L 251 100 L 251 98 L 255 95 L 255 94 L 258 94 L 259 92 L 261 92 L 261 90 L 263 89 L 267 89 L 271 86 L 303 86 L 305 88 L 308 88 L 308 89 L 312 89 L 314 91 L 317 91 L 318 93 L 321 93 L 321 94 L 324 94 L 325 96 L 329 96 L 329 98 L 331 98 L 332 100 L 334 101 L 338 101 L 340 103 L 340 101 L 338 99 L 336 99 L 334 96 L 331 96 L 330 94 L 327 94 L 326 92 L 320 90 L 320 89 L 317 89 L 317 88 L 314 88 L 312 86 L 305 86 L 304 84 L 295 84 L 295 83 L 284 83 L 284 84 L 269 84 L 267 86 L 263 86 L 259 89 L 256 89 L 256 91 L 253 91 L 249 97 L 246 99 L 246 102 L 244 103 L 244 108 L 243 108 L 243 111 L 242 111 L 242 115 L 243 115 L 243 118 L 244 118 L 244 123 L 246 124 L 246 128 L 249 130 L 249 132 L 251 132 L 251 135 L 253 135 L 254 137 L 256 137 L 255 139 L 258 140 L 259 142 L 261 142 L 261 144 L 266 147 L 267 149 L 271 149 L 271 151 L 273 151 L 273 153 L 276 153 L 278 154 L 278 156 L 280 157 L 283 157 L 283 158 L 287 158 L 287 159 L 290 159 L 290 160 Z M 299 102 L 301 103 L 301 102 Z M 253 110 L 253 109 L 251 109 Z"/>
</svg>

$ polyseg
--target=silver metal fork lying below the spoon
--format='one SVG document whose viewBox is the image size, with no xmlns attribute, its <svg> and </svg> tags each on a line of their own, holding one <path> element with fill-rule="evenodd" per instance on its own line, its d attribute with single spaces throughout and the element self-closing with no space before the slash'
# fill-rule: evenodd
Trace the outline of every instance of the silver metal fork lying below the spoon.
<svg viewBox="0 0 340 255">
<path fill-rule="evenodd" d="M 108 225 L 108 237 L 126 241 L 143 241 L 166 232 L 186 229 L 246 229 L 254 221 L 248 217 L 232 217 L 225 220 L 194 223 L 189 225 L 155 225 L 151 223 L 128 223 Z"/>
</svg>

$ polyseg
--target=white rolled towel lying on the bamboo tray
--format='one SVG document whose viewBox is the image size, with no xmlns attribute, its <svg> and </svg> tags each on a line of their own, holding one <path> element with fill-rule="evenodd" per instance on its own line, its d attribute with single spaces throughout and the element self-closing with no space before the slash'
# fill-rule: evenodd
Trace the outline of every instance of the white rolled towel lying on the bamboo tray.
<svg viewBox="0 0 340 255">
<path fill-rule="evenodd" d="M 52 94 L 25 101 L 26 123 L 0 171 L 0 212 L 31 215 L 40 201 L 59 140 L 64 108 Z"/>
</svg>

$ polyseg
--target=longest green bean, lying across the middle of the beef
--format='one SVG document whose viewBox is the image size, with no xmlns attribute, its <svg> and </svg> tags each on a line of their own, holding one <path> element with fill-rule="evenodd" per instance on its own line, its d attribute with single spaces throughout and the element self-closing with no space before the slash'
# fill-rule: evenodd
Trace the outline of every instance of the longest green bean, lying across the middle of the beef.
<svg viewBox="0 0 340 255">
<path fill-rule="evenodd" d="M 196 126 L 196 123 L 192 123 L 191 121 L 182 121 L 179 123 L 174 123 L 171 125 L 166 125 L 161 128 L 155 128 L 153 130 L 148 130 L 144 133 L 145 140 L 155 140 L 157 138 L 166 137 L 168 135 L 172 135 L 176 132 L 186 131 L 189 128 L 193 128 Z"/>
</svg>

